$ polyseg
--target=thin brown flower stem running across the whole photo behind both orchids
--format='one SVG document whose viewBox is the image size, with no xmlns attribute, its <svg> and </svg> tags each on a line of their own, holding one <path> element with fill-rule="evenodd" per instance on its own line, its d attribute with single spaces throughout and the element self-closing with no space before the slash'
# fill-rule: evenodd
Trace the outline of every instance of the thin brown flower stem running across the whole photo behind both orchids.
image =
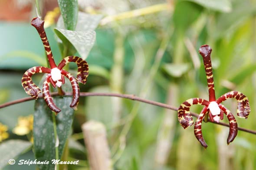
<svg viewBox="0 0 256 170">
<path fill-rule="evenodd" d="M 65 96 L 72 96 L 72 95 L 73 95 L 72 93 L 65 93 Z M 58 92 L 51 93 L 51 96 L 58 96 Z M 87 92 L 82 92 L 82 93 L 80 93 L 80 96 L 112 96 L 112 97 L 121 97 L 121 98 L 125 98 L 125 99 L 136 100 L 136 101 L 139 101 L 139 102 L 142 102 L 142 103 L 148 103 L 148 104 L 151 104 L 151 105 L 154 105 L 154 106 L 163 107 L 163 108 L 166 108 L 166 109 L 171 109 L 171 110 L 176 110 L 176 111 L 178 110 L 177 107 L 170 106 L 170 105 L 167 105 L 167 104 L 164 104 L 164 103 L 160 103 L 160 102 L 155 102 L 155 101 L 148 100 L 148 99 L 143 99 L 143 98 L 140 98 L 138 96 L 131 95 L 131 94 L 87 93 Z M 42 98 L 42 97 L 43 97 L 42 95 L 38 96 L 38 98 Z M 17 103 L 23 103 L 23 102 L 26 102 L 26 101 L 30 101 L 30 100 L 33 100 L 33 98 L 32 97 L 25 97 L 25 98 L 22 98 L 22 99 L 13 100 L 11 102 L 7 102 L 7 103 L 1 104 L 0 105 L 0 109 L 4 108 L 4 107 L 7 107 L 7 106 L 11 106 L 11 105 L 17 104 Z M 194 117 L 198 117 L 197 113 L 190 112 L 190 114 L 192 116 L 194 116 Z M 210 121 L 210 119 L 208 119 L 208 121 L 212 122 L 212 121 Z M 212 122 L 212 123 L 229 127 L 228 124 L 222 123 L 222 122 L 219 122 L 219 123 Z M 238 130 L 256 135 L 256 131 L 249 130 L 249 129 L 246 129 L 246 128 L 238 127 Z"/>
</svg>

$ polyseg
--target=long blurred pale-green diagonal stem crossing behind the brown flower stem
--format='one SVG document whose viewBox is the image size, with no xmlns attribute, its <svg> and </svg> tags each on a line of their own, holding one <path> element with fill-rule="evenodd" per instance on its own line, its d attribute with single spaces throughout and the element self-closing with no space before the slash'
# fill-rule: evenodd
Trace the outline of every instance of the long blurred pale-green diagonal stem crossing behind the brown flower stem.
<svg viewBox="0 0 256 170">
<path fill-rule="evenodd" d="M 155 55 L 155 61 L 150 69 L 150 73 L 149 73 L 147 80 L 145 81 L 144 86 L 139 95 L 143 98 L 147 95 L 148 91 L 151 88 L 151 85 L 152 85 L 151 82 L 153 81 L 154 76 L 156 75 L 156 73 L 160 67 L 161 60 L 164 56 L 164 52 L 166 51 L 167 45 L 170 41 L 171 34 L 172 34 L 172 30 L 170 29 L 170 26 L 169 26 L 167 29 L 167 35 L 163 36 L 163 40 L 162 40 L 160 47 L 158 48 L 158 51 Z M 119 139 L 118 139 L 118 141 L 116 141 L 114 143 L 114 145 L 112 147 L 112 154 L 116 154 L 113 157 L 113 164 L 115 164 L 115 162 L 120 158 L 122 152 L 125 149 L 124 147 L 120 147 L 121 151 L 118 151 L 119 146 L 125 146 L 125 144 L 121 144 L 120 141 L 125 142 L 124 139 L 131 128 L 133 120 L 135 119 L 136 115 L 138 114 L 139 107 L 140 107 L 140 103 L 136 103 L 135 106 L 131 109 L 131 113 L 129 114 L 128 120 L 125 123 L 124 128 L 122 129 L 122 131 L 120 133 Z"/>
</svg>

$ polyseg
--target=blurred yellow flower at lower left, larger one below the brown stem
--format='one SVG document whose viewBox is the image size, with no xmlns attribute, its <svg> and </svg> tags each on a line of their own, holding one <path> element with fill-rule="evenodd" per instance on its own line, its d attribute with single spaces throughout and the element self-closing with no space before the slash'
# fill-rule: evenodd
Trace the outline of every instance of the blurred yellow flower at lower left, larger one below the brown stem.
<svg viewBox="0 0 256 170">
<path fill-rule="evenodd" d="M 27 135 L 33 130 L 33 115 L 18 118 L 18 125 L 13 128 L 16 135 Z"/>
</svg>

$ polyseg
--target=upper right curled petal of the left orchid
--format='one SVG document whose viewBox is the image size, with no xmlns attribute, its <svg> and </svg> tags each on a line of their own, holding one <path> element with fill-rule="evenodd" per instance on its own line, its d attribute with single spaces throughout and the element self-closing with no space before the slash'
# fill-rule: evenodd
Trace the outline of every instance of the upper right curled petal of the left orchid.
<svg viewBox="0 0 256 170">
<path fill-rule="evenodd" d="M 70 62 L 75 62 L 77 64 L 77 76 L 76 79 L 80 83 L 86 83 L 87 77 L 89 75 L 89 67 L 85 60 L 77 56 L 68 56 L 64 58 L 58 65 L 59 70 L 61 70 L 66 64 Z"/>
</svg>

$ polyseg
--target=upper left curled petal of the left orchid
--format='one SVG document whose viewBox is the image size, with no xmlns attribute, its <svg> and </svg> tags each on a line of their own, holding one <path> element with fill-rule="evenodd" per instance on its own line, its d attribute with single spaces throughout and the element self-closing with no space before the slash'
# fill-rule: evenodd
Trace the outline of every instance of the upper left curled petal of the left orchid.
<svg viewBox="0 0 256 170">
<path fill-rule="evenodd" d="M 41 90 L 38 86 L 32 81 L 32 76 L 36 73 L 51 73 L 51 70 L 47 67 L 36 66 L 28 69 L 22 76 L 21 84 L 25 92 L 32 96 L 34 99 L 37 99 L 38 94 L 41 93 Z"/>
</svg>

